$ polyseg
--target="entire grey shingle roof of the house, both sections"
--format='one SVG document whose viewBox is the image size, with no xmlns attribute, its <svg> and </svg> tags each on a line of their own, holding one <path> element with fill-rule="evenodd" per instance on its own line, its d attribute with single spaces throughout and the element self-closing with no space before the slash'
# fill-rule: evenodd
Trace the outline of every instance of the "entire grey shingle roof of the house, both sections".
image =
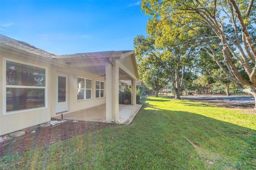
<svg viewBox="0 0 256 170">
<path fill-rule="evenodd" d="M 0 43 L 11 46 L 11 47 L 15 47 L 17 49 L 21 49 L 23 51 L 27 51 L 29 53 L 33 53 L 33 54 L 36 54 L 36 55 L 40 55 L 40 56 L 48 57 L 48 58 L 52 58 L 52 59 L 73 58 L 73 57 L 89 57 L 89 56 L 106 56 L 106 55 L 121 55 L 121 54 L 128 53 L 128 52 L 132 51 L 132 50 L 102 51 L 102 52 L 92 52 L 92 53 L 76 53 L 76 54 L 70 54 L 70 55 L 55 55 L 55 54 L 49 53 L 47 51 L 44 51 L 42 49 L 36 48 L 35 46 L 33 46 L 29 43 L 14 40 L 14 39 L 9 38 L 7 36 L 4 36 L 2 34 L 0 34 Z"/>
</svg>

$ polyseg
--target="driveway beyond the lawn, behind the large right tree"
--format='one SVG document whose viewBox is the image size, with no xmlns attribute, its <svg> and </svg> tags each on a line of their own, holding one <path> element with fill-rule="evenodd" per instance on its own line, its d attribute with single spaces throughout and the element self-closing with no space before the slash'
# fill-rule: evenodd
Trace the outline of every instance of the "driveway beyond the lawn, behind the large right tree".
<svg viewBox="0 0 256 170">
<path fill-rule="evenodd" d="M 181 96 L 182 99 L 201 101 L 204 103 L 210 103 L 220 107 L 227 108 L 246 108 L 253 109 L 255 100 L 253 96 L 248 95 L 193 95 L 193 96 Z"/>
</svg>

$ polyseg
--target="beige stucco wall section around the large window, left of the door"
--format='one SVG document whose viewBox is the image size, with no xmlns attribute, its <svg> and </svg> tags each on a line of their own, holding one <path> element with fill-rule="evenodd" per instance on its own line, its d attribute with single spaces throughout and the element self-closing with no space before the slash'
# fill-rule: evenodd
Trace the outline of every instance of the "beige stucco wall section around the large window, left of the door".
<svg viewBox="0 0 256 170">
<path fill-rule="evenodd" d="M 31 59 L 30 56 L 26 54 L 19 54 L 12 51 L 3 51 L 0 50 L 0 135 L 7 134 L 9 132 L 14 132 L 16 130 L 20 130 L 23 128 L 31 127 L 33 125 L 38 125 L 41 123 L 45 123 L 47 121 L 50 121 L 50 89 L 46 89 L 47 94 L 47 107 L 40 110 L 34 110 L 34 111 L 26 111 L 22 113 L 14 113 L 14 114 L 7 114 L 3 115 L 3 83 L 5 83 L 5 77 L 3 77 L 3 67 L 5 63 L 3 63 L 3 57 L 6 57 L 8 59 L 15 59 L 18 61 L 24 61 L 26 63 L 31 63 L 40 66 L 47 67 L 47 77 L 46 77 L 46 83 L 47 86 L 50 87 L 50 65 L 47 63 L 44 63 L 42 60 L 38 60 L 36 58 Z M 40 63 L 40 64 L 39 64 Z"/>
</svg>

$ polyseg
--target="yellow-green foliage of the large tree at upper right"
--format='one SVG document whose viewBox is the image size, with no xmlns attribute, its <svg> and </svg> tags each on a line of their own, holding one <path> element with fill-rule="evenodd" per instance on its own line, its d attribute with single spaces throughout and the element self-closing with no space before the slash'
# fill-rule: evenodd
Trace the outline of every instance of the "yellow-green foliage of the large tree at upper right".
<svg viewBox="0 0 256 170">
<path fill-rule="evenodd" d="M 255 6 L 251 0 L 142 0 L 141 5 L 150 16 L 147 31 L 157 47 L 195 47 L 201 58 L 198 72 L 211 75 L 219 67 L 224 74 L 216 78 L 226 85 L 233 81 L 256 97 Z"/>
</svg>

